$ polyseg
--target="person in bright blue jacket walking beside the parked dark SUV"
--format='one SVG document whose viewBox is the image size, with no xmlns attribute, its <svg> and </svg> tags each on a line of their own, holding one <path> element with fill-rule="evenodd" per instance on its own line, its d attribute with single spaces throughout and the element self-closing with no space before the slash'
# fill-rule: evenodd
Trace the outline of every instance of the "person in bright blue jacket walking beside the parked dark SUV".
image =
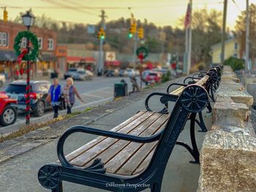
<svg viewBox="0 0 256 192">
<path fill-rule="evenodd" d="M 59 85 L 57 78 L 53 78 L 53 85 L 50 85 L 47 101 L 53 106 L 53 118 L 58 118 L 59 105 L 61 104 L 61 85 Z"/>
</svg>

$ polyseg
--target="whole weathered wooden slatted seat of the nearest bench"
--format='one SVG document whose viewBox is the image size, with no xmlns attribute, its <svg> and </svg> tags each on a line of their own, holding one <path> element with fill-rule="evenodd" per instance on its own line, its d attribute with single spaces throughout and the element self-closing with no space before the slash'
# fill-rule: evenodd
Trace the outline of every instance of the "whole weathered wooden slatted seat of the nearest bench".
<svg viewBox="0 0 256 192">
<path fill-rule="evenodd" d="M 169 115 L 140 111 L 110 131 L 147 137 L 165 128 Z M 106 172 L 134 175 L 148 166 L 157 142 L 137 143 L 109 137 L 97 137 L 66 156 L 73 166 L 86 168 L 101 158 Z"/>
</svg>

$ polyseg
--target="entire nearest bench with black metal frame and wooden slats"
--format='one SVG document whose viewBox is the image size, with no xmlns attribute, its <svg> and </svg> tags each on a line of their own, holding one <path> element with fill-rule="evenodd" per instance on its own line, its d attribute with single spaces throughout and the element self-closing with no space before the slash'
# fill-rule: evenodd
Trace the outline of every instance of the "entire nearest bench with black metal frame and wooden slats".
<svg viewBox="0 0 256 192">
<path fill-rule="evenodd" d="M 39 183 L 54 192 L 62 191 L 62 181 L 108 191 L 142 191 L 146 188 L 160 191 L 165 166 L 178 135 L 189 117 L 195 119 L 195 114 L 208 105 L 208 92 L 204 87 L 205 84 L 197 82 L 187 85 L 178 97 L 166 93 L 160 95 L 162 104 L 175 99 L 170 115 L 138 112 L 110 131 L 85 126 L 69 128 L 57 146 L 61 164 L 42 166 L 38 172 Z M 76 132 L 100 137 L 65 156 L 64 142 Z"/>
</svg>

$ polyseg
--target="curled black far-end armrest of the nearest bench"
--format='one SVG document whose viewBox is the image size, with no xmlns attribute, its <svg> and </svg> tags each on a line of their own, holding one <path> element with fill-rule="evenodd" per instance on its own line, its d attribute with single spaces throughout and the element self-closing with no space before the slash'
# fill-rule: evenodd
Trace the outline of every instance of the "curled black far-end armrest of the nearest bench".
<svg viewBox="0 0 256 192">
<path fill-rule="evenodd" d="M 152 96 L 161 96 L 159 101 L 165 105 L 165 107 L 159 111 L 160 113 L 167 113 L 168 112 L 168 101 L 174 101 L 176 102 L 176 100 L 178 99 L 178 96 L 176 95 L 171 95 L 169 93 L 151 93 L 145 100 L 145 107 L 146 107 L 146 110 L 148 111 L 153 111 L 151 110 L 151 108 L 148 106 L 148 101 L 149 99 L 151 99 Z"/>
</svg>

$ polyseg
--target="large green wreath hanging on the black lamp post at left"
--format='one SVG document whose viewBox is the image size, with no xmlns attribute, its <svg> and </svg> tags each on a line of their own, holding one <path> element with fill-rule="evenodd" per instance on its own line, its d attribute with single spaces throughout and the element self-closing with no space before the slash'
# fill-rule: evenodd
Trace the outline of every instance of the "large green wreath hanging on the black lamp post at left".
<svg viewBox="0 0 256 192">
<path fill-rule="evenodd" d="M 31 44 L 33 45 L 33 48 L 31 48 L 28 54 L 23 55 L 22 59 L 25 61 L 36 61 L 38 51 L 39 51 L 39 45 L 38 45 L 37 36 L 33 34 L 31 31 L 21 31 L 15 37 L 13 48 L 15 50 L 16 55 L 19 56 L 20 54 L 23 53 L 23 51 L 20 50 L 20 44 L 23 37 L 26 37 L 26 39 L 29 39 L 29 42 L 31 42 Z"/>
</svg>

